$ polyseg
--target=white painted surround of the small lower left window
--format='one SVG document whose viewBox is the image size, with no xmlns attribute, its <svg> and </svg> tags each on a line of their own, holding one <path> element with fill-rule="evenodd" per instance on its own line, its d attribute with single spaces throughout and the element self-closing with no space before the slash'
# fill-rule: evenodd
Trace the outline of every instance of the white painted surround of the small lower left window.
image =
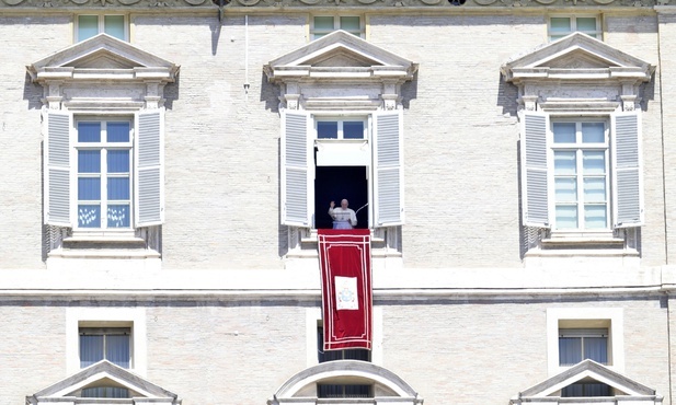
<svg viewBox="0 0 676 405">
<path fill-rule="evenodd" d="M 68 375 L 80 371 L 79 328 L 82 322 L 125 322 L 131 324 L 131 368 L 146 377 L 148 347 L 145 308 L 68 308 L 66 310 L 66 369 Z"/>
</svg>

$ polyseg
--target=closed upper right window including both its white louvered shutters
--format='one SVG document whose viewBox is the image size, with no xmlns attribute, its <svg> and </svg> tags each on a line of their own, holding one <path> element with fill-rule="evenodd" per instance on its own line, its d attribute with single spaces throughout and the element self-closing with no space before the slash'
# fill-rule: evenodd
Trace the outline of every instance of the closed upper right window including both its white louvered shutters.
<svg viewBox="0 0 676 405">
<path fill-rule="evenodd" d="M 524 223 L 575 236 L 642 224 L 639 128 L 635 112 L 575 120 L 526 113 Z"/>
</svg>

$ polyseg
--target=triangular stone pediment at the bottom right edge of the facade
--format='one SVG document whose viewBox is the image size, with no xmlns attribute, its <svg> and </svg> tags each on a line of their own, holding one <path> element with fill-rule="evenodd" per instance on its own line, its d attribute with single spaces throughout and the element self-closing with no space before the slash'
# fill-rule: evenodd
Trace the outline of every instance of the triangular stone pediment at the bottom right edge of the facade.
<svg viewBox="0 0 676 405">
<path fill-rule="evenodd" d="M 662 401 L 662 396 L 637 381 L 633 381 L 608 367 L 586 359 L 571 367 L 562 373 L 531 386 L 512 400 L 513 404 L 532 402 L 535 398 L 559 397 L 561 390 L 578 382 L 603 383 L 610 386 L 612 396 L 630 396 L 654 403 Z"/>
</svg>

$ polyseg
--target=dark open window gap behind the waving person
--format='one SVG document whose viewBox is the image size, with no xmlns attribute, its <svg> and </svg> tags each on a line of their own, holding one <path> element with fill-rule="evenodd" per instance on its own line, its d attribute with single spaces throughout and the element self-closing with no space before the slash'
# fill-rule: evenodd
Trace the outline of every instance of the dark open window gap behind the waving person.
<svg viewBox="0 0 676 405">
<path fill-rule="evenodd" d="M 341 205 L 343 198 L 357 212 L 358 229 L 368 229 L 368 180 L 366 166 L 318 166 L 314 173 L 314 227 L 333 228 L 329 204 Z"/>
</svg>

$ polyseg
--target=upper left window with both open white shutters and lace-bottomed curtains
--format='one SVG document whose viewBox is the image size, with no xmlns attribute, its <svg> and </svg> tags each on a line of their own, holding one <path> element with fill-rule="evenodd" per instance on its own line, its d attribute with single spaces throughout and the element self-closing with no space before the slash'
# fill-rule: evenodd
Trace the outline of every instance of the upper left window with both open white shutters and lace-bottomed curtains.
<svg viewBox="0 0 676 405">
<path fill-rule="evenodd" d="M 131 119 L 49 112 L 46 222 L 81 232 L 131 230 L 163 219 L 162 111 Z M 72 162 L 72 163 L 71 163 Z"/>
</svg>

